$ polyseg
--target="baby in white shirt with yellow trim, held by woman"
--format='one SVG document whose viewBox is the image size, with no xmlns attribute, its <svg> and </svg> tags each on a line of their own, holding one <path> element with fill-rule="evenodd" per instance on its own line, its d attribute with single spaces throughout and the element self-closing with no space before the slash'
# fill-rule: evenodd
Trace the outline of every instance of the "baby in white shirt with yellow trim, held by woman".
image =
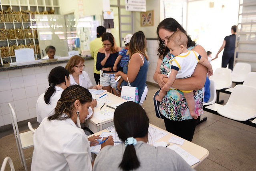
<svg viewBox="0 0 256 171">
<path fill-rule="evenodd" d="M 175 57 L 169 60 L 169 64 L 171 65 L 171 70 L 167 75 L 169 79 L 160 90 L 159 95 L 155 97 L 155 99 L 160 102 L 163 100 L 163 97 L 166 95 L 167 91 L 169 91 L 171 88 L 174 80 L 176 78 L 190 77 L 193 74 L 197 63 L 200 63 L 208 68 L 208 76 L 213 74 L 212 65 L 207 59 L 201 58 L 201 55 L 195 51 L 187 50 L 187 36 L 185 33 L 181 31 L 174 32 L 168 39 L 167 47 L 170 50 L 170 54 L 173 54 Z M 198 115 L 195 113 L 193 91 L 182 92 L 187 101 L 187 106 L 189 108 L 191 117 L 197 119 Z"/>
</svg>

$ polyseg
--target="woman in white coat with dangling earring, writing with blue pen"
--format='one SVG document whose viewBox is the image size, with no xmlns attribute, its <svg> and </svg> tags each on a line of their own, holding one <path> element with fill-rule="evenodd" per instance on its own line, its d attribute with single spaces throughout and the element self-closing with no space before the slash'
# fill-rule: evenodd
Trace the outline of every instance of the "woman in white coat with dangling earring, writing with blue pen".
<svg viewBox="0 0 256 171">
<path fill-rule="evenodd" d="M 62 92 L 54 115 L 44 118 L 34 134 L 31 171 L 92 170 L 89 142 L 78 127 L 89 115 L 91 102 L 91 93 L 79 85 L 71 85 Z M 101 149 L 113 144 L 109 136 Z"/>
</svg>

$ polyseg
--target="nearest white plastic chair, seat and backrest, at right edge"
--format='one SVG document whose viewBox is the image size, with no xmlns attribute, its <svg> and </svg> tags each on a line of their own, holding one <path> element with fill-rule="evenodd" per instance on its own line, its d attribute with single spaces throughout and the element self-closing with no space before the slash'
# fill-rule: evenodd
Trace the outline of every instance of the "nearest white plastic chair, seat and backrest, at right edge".
<svg viewBox="0 0 256 171">
<path fill-rule="evenodd" d="M 256 88 L 236 85 L 223 107 L 220 107 L 218 114 L 234 119 L 236 121 L 247 121 L 256 117 Z"/>
</svg>

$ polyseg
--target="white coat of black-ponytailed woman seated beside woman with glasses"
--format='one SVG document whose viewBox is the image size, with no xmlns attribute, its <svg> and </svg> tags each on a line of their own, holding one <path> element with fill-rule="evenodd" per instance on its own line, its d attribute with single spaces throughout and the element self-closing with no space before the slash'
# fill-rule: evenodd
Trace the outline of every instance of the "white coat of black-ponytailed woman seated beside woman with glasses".
<svg viewBox="0 0 256 171">
<path fill-rule="evenodd" d="M 36 116 L 37 122 L 41 123 L 45 117 L 54 113 L 54 109 L 57 105 L 58 100 L 60 99 L 62 88 L 55 86 L 56 92 L 50 97 L 50 104 L 47 105 L 44 101 L 44 94 L 40 95 L 36 103 Z"/>
</svg>

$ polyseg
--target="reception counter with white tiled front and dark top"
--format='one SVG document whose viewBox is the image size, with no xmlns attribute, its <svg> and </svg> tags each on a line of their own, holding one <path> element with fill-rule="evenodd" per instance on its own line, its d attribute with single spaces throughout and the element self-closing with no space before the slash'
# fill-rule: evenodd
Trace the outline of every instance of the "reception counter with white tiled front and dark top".
<svg viewBox="0 0 256 171">
<path fill-rule="evenodd" d="M 18 121 L 36 117 L 36 101 L 48 86 L 48 74 L 56 66 L 65 67 L 68 59 L 42 60 L 35 64 L 0 67 L 0 127 L 11 124 L 8 103 L 12 104 Z M 84 70 L 93 83 L 94 60 L 85 57 Z"/>
</svg>

